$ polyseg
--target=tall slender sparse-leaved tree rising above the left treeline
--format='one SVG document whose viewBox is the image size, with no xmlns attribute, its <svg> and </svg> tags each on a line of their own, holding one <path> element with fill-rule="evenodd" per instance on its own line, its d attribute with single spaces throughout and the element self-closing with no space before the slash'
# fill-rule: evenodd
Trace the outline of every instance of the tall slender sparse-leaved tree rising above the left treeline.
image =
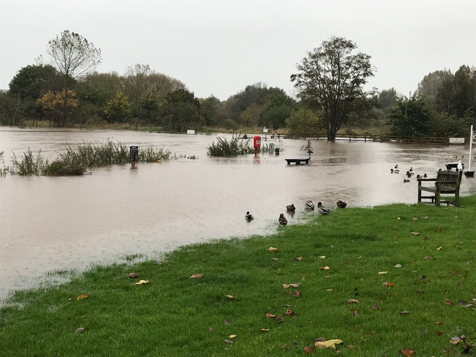
<svg viewBox="0 0 476 357">
<path fill-rule="evenodd" d="M 60 36 L 57 35 L 48 42 L 47 52 L 62 75 L 62 93 L 65 95 L 62 110 L 64 120 L 67 121 L 67 95 L 72 89 L 73 81 L 101 63 L 101 50 L 81 35 L 64 30 Z"/>
</svg>

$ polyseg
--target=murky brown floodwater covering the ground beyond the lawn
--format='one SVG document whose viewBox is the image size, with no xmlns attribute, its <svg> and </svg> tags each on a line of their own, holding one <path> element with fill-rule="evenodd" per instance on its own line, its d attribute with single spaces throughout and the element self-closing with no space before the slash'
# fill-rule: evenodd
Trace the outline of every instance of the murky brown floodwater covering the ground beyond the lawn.
<svg viewBox="0 0 476 357">
<path fill-rule="evenodd" d="M 225 136 L 224 134 L 218 134 Z M 228 136 L 228 135 L 226 135 Z M 416 203 L 416 179 L 435 177 L 445 161 L 465 155 L 468 146 L 313 141 L 309 165 L 286 165 L 307 157 L 307 140 L 281 139 L 274 154 L 214 158 L 206 155 L 216 135 L 133 131 L 0 128 L 0 151 L 9 164 L 12 151 L 29 147 L 54 158 L 65 143 L 120 141 L 127 146 L 158 146 L 195 155 L 162 163 L 93 168 L 79 177 L 0 178 L 0 297 L 30 288 L 53 270 L 84 269 L 91 263 L 120 261 L 128 254 L 157 257 L 179 245 L 231 236 L 274 232 L 280 213 L 290 224 L 306 215 L 304 202 L 336 208 L 385 203 Z M 278 144 L 278 140 L 268 143 Z M 264 140 L 263 140 L 263 143 Z M 390 174 L 398 164 L 402 174 Z M 473 163 L 476 165 L 476 163 Z M 473 166 L 474 166 L 473 165 Z M 476 193 L 476 180 L 463 176 L 460 193 Z M 286 213 L 294 203 L 296 215 Z M 254 220 L 246 222 L 250 211 Z"/>
</svg>

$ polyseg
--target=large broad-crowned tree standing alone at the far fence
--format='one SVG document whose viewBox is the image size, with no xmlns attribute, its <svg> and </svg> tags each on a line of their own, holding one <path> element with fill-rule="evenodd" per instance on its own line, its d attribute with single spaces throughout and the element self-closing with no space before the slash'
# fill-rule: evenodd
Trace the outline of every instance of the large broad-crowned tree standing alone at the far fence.
<svg viewBox="0 0 476 357">
<path fill-rule="evenodd" d="M 298 90 L 297 97 L 326 126 L 327 140 L 335 140 L 336 132 L 352 108 L 352 102 L 370 92 L 362 88 L 373 76 L 370 56 L 352 52 L 354 42 L 331 37 L 322 46 L 307 53 L 291 75 Z"/>
</svg>

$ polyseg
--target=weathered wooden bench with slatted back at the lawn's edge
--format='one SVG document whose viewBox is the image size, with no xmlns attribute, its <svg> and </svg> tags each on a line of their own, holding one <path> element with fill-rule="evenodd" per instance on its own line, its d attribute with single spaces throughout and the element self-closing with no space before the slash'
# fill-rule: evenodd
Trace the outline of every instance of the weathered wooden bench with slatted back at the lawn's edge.
<svg viewBox="0 0 476 357">
<path fill-rule="evenodd" d="M 458 172 L 452 170 L 439 170 L 436 179 L 416 179 L 418 181 L 418 203 L 421 203 L 422 198 L 430 198 L 431 203 L 435 203 L 435 206 L 439 206 L 441 203 L 446 203 L 448 206 L 450 203 L 455 206 L 460 205 L 460 184 L 463 170 Z M 434 181 L 435 185 L 431 187 L 422 186 L 422 181 Z M 432 192 L 431 196 L 422 196 L 421 191 Z M 441 195 L 455 195 L 454 200 L 450 200 L 450 197 L 442 197 Z M 442 200 L 442 198 L 446 198 Z"/>
</svg>

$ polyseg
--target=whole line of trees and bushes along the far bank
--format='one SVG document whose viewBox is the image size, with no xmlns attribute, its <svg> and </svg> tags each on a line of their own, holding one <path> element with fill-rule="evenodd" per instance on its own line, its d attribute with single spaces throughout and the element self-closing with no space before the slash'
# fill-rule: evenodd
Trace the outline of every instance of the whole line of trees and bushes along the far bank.
<svg viewBox="0 0 476 357">
<path fill-rule="evenodd" d="M 164 131 L 267 126 L 308 136 L 342 130 L 400 136 L 464 135 L 476 119 L 476 68 L 426 75 L 413 95 L 395 88 L 364 90 L 374 75 L 371 57 L 345 38 L 331 37 L 297 63 L 291 81 L 296 98 L 258 82 L 220 101 L 197 98 L 183 82 L 148 64 L 123 74 L 95 71 L 101 50 L 77 33 L 63 31 L 47 46 L 51 64 L 40 57 L 21 68 L 8 91 L 0 92 L 0 124 L 155 126 Z"/>
</svg>

